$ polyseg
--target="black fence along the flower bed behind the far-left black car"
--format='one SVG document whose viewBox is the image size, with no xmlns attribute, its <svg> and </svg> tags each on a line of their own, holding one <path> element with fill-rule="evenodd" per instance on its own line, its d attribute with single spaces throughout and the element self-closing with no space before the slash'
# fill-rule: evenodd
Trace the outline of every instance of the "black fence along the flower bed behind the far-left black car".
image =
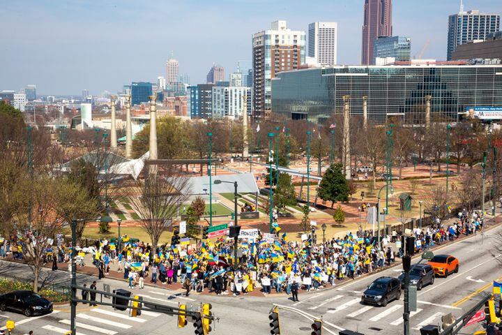
<svg viewBox="0 0 502 335">
<path fill-rule="evenodd" d="M 0 274 L 0 293 L 14 290 L 33 290 L 33 279 Z M 52 302 L 70 300 L 70 288 L 68 285 L 38 283 L 38 294 Z"/>
</svg>

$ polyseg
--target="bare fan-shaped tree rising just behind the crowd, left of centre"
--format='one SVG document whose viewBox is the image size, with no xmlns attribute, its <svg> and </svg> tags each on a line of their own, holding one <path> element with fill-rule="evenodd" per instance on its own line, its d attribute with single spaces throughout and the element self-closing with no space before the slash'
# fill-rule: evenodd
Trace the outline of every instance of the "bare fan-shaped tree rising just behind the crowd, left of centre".
<svg viewBox="0 0 502 335">
<path fill-rule="evenodd" d="M 144 180 L 138 179 L 127 188 L 130 204 L 139 216 L 136 221 L 149 234 L 154 250 L 169 219 L 176 216 L 189 192 L 188 178 L 178 176 L 172 170 L 165 172 L 165 175 L 153 174 Z"/>
</svg>

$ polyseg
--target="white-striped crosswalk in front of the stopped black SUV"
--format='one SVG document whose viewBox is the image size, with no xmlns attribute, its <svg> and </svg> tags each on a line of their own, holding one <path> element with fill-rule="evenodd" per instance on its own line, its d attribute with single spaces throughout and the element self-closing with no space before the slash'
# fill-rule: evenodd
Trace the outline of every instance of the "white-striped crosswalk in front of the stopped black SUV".
<svg viewBox="0 0 502 335">
<path fill-rule="evenodd" d="M 365 320 L 367 322 L 374 322 L 374 325 L 381 327 L 382 325 L 400 326 L 402 325 L 403 318 L 403 301 L 392 301 L 388 306 L 374 306 L 361 303 L 360 293 L 337 292 L 337 294 L 330 297 L 324 296 L 324 299 L 319 298 L 317 295 L 312 297 L 304 297 L 302 299 L 303 305 L 291 304 L 294 308 L 300 308 L 308 313 L 317 313 L 319 315 L 345 315 L 346 318 L 353 318 L 357 320 Z M 314 300 L 315 299 L 315 300 Z M 435 308 L 434 308 L 435 307 Z M 441 315 L 455 312 L 460 308 L 449 305 L 434 304 L 428 301 L 418 301 L 418 308 L 416 311 L 410 313 L 410 324 L 412 329 L 418 330 L 425 325 L 434 325 L 441 320 Z M 441 311 L 441 312 L 438 312 Z"/>
</svg>

